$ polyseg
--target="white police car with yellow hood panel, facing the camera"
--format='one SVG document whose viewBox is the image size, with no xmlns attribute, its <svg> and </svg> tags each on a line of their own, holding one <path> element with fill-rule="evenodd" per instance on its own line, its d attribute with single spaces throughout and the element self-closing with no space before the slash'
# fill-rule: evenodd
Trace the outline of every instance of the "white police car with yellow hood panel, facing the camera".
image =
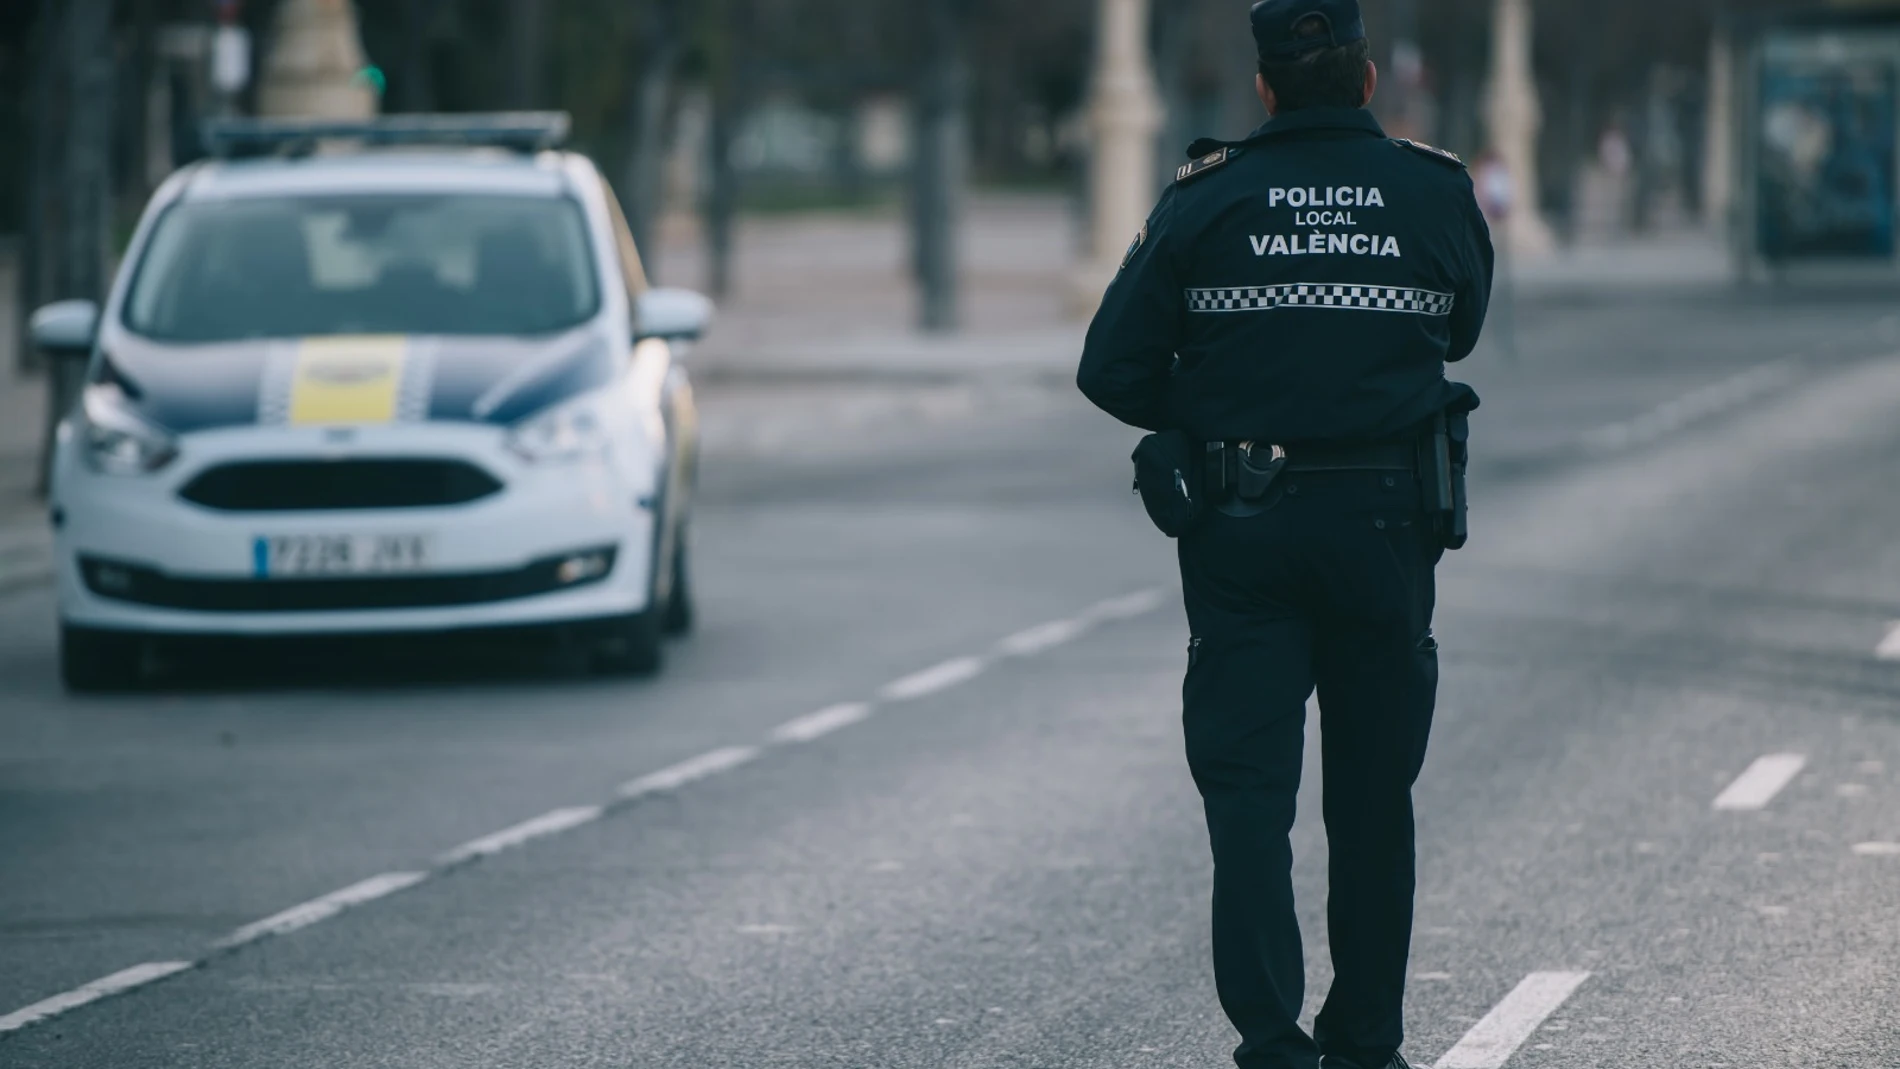
<svg viewBox="0 0 1900 1069">
<path fill-rule="evenodd" d="M 104 308 L 59 427 L 61 668 L 154 638 L 559 627 L 652 672 L 692 623 L 711 304 L 652 289 L 566 116 L 226 122 Z"/>
</svg>

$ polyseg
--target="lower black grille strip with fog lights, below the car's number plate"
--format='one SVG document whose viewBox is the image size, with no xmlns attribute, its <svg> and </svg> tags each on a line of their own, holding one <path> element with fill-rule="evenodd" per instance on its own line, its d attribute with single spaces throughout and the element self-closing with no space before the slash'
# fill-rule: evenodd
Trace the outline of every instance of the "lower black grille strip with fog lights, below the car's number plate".
<svg viewBox="0 0 1900 1069">
<path fill-rule="evenodd" d="M 576 558 L 593 558 L 595 566 L 580 573 L 562 568 Z M 614 558 L 614 547 L 597 547 L 536 560 L 513 572 L 348 579 L 184 579 L 156 568 L 82 556 L 80 575 L 86 579 L 86 589 L 101 598 L 163 610 L 215 613 L 426 610 L 578 591 L 612 575 Z"/>
</svg>

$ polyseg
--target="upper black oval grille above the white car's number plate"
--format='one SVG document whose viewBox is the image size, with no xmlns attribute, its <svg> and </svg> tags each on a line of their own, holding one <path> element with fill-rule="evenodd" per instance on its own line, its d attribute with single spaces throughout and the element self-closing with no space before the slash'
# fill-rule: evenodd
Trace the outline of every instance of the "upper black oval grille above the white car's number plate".
<svg viewBox="0 0 1900 1069">
<path fill-rule="evenodd" d="M 251 459 L 201 471 L 179 496 L 222 513 L 466 505 L 502 480 L 460 459 Z"/>
</svg>

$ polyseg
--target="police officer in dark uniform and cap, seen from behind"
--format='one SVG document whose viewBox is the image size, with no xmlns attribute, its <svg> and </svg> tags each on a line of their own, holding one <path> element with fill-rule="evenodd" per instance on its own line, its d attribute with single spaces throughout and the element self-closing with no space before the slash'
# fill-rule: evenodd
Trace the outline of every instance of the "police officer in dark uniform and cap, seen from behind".
<svg viewBox="0 0 1900 1069">
<path fill-rule="evenodd" d="M 1492 241 L 1465 165 L 1364 110 L 1378 70 L 1357 0 L 1264 0 L 1252 28 L 1271 120 L 1189 148 L 1077 382 L 1191 441 L 1199 488 L 1172 480 L 1208 505 L 1180 539 L 1184 727 L 1235 1061 L 1393 1069 L 1438 685 L 1433 570 L 1461 543 L 1438 513 L 1444 427 L 1478 404 L 1446 363 L 1478 342 Z M 1288 832 L 1315 687 L 1336 980 L 1309 1037 Z"/>
</svg>

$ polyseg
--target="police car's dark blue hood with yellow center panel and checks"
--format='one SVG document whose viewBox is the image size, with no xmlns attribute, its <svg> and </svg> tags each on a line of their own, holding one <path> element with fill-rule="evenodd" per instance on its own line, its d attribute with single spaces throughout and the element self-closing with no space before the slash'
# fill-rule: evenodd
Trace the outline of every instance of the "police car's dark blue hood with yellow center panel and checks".
<svg viewBox="0 0 1900 1069">
<path fill-rule="evenodd" d="M 618 366 L 597 328 L 549 338 L 346 334 L 171 346 L 120 334 L 112 378 L 177 431 L 403 422 L 515 423 L 606 385 Z"/>
</svg>

